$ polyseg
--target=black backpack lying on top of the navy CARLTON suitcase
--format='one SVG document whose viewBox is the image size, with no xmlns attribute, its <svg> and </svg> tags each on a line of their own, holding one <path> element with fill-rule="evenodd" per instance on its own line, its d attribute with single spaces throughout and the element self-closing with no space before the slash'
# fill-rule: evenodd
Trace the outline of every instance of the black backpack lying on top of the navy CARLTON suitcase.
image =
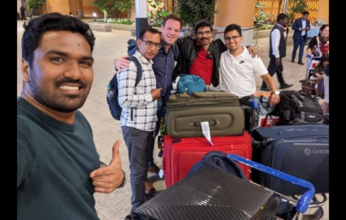
<svg viewBox="0 0 346 220">
<path fill-rule="evenodd" d="M 298 91 L 281 91 L 280 102 L 270 115 L 278 115 L 276 125 L 323 124 L 323 111 L 309 94 Z"/>
</svg>

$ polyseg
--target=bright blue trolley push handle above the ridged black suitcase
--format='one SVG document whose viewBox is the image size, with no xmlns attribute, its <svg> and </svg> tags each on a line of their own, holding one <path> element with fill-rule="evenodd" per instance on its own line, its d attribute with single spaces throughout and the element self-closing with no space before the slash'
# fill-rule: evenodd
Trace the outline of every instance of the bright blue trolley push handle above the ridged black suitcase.
<svg viewBox="0 0 346 220">
<path fill-rule="evenodd" d="M 302 197 L 298 200 L 297 207 L 296 207 L 297 212 L 299 212 L 299 213 L 305 213 L 306 212 L 308 205 L 309 205 L 313 195 L 315 194 L 315 187 L 310 182 L 303 180 L 303 179 L 300 179 L 300 178 L 297 178 L 297 177 L 294 177 L 294 176 L 291 176 L 287 173 L 283 173 L 279 170 L 270 168 L 268 166 L 264 166 L 263 164 L 254 162 L 254 161 L 246 159 L 244 157 L 239 157 L 238 155 L 229 154 L 227 156 L 236 162 L 243 163 L 245 165 L 250 166 L 253 169 L 259 170 L 263 173 L 272 175 L 274 177 L 280 178 L 280 179 L 285 180 L 287 182 L 290 182 L 294 185 L 297 185 L 299 187 L 307 189 L 307 191 L 304 192 Z"/>
</svg>

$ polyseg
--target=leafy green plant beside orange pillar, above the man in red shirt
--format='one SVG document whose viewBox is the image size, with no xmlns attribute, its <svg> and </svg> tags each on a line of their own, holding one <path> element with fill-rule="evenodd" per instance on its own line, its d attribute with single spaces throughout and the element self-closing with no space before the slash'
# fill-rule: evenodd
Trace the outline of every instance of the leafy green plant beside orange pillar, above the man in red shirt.
<svg viewBox="0 0 346 220">
<path fill-rule="evenodd" d="M 194 27 L 196 22 L 207 19 L 213 24 L 217 0 L 179 0 L 176 2 L 175 12 L 181 16 L 185 25 Z"/>
</svg>

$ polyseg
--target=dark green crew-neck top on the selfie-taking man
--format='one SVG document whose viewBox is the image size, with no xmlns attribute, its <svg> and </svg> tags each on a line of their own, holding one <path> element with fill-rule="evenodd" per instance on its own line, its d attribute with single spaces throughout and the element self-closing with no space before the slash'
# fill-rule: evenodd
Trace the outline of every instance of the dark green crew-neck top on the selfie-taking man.
<svg viewBox="0 0 346 220">
<path fill-rule="evenodd" d="M 98 220 L 89 175 L 99 164 L 80 111 L 65 124 L 18 97 L 18 220 Z"/>
</svg>

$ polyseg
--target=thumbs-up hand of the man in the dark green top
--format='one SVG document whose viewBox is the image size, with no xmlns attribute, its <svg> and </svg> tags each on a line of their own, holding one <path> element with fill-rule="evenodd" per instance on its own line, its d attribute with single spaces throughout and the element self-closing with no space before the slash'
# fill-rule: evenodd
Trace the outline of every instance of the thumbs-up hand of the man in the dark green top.
<svg viewBox="0 0 346 220">
<path fill-rule="evenodd" d="M 120 144 L 119 140 L 114 143 L 113 157 L 108 166 L 102 164 L 100 168 L 90 173 L 95 192 L 110 193 L 122 184 L 125 173 L 121 166 Z"/>
</svg>

